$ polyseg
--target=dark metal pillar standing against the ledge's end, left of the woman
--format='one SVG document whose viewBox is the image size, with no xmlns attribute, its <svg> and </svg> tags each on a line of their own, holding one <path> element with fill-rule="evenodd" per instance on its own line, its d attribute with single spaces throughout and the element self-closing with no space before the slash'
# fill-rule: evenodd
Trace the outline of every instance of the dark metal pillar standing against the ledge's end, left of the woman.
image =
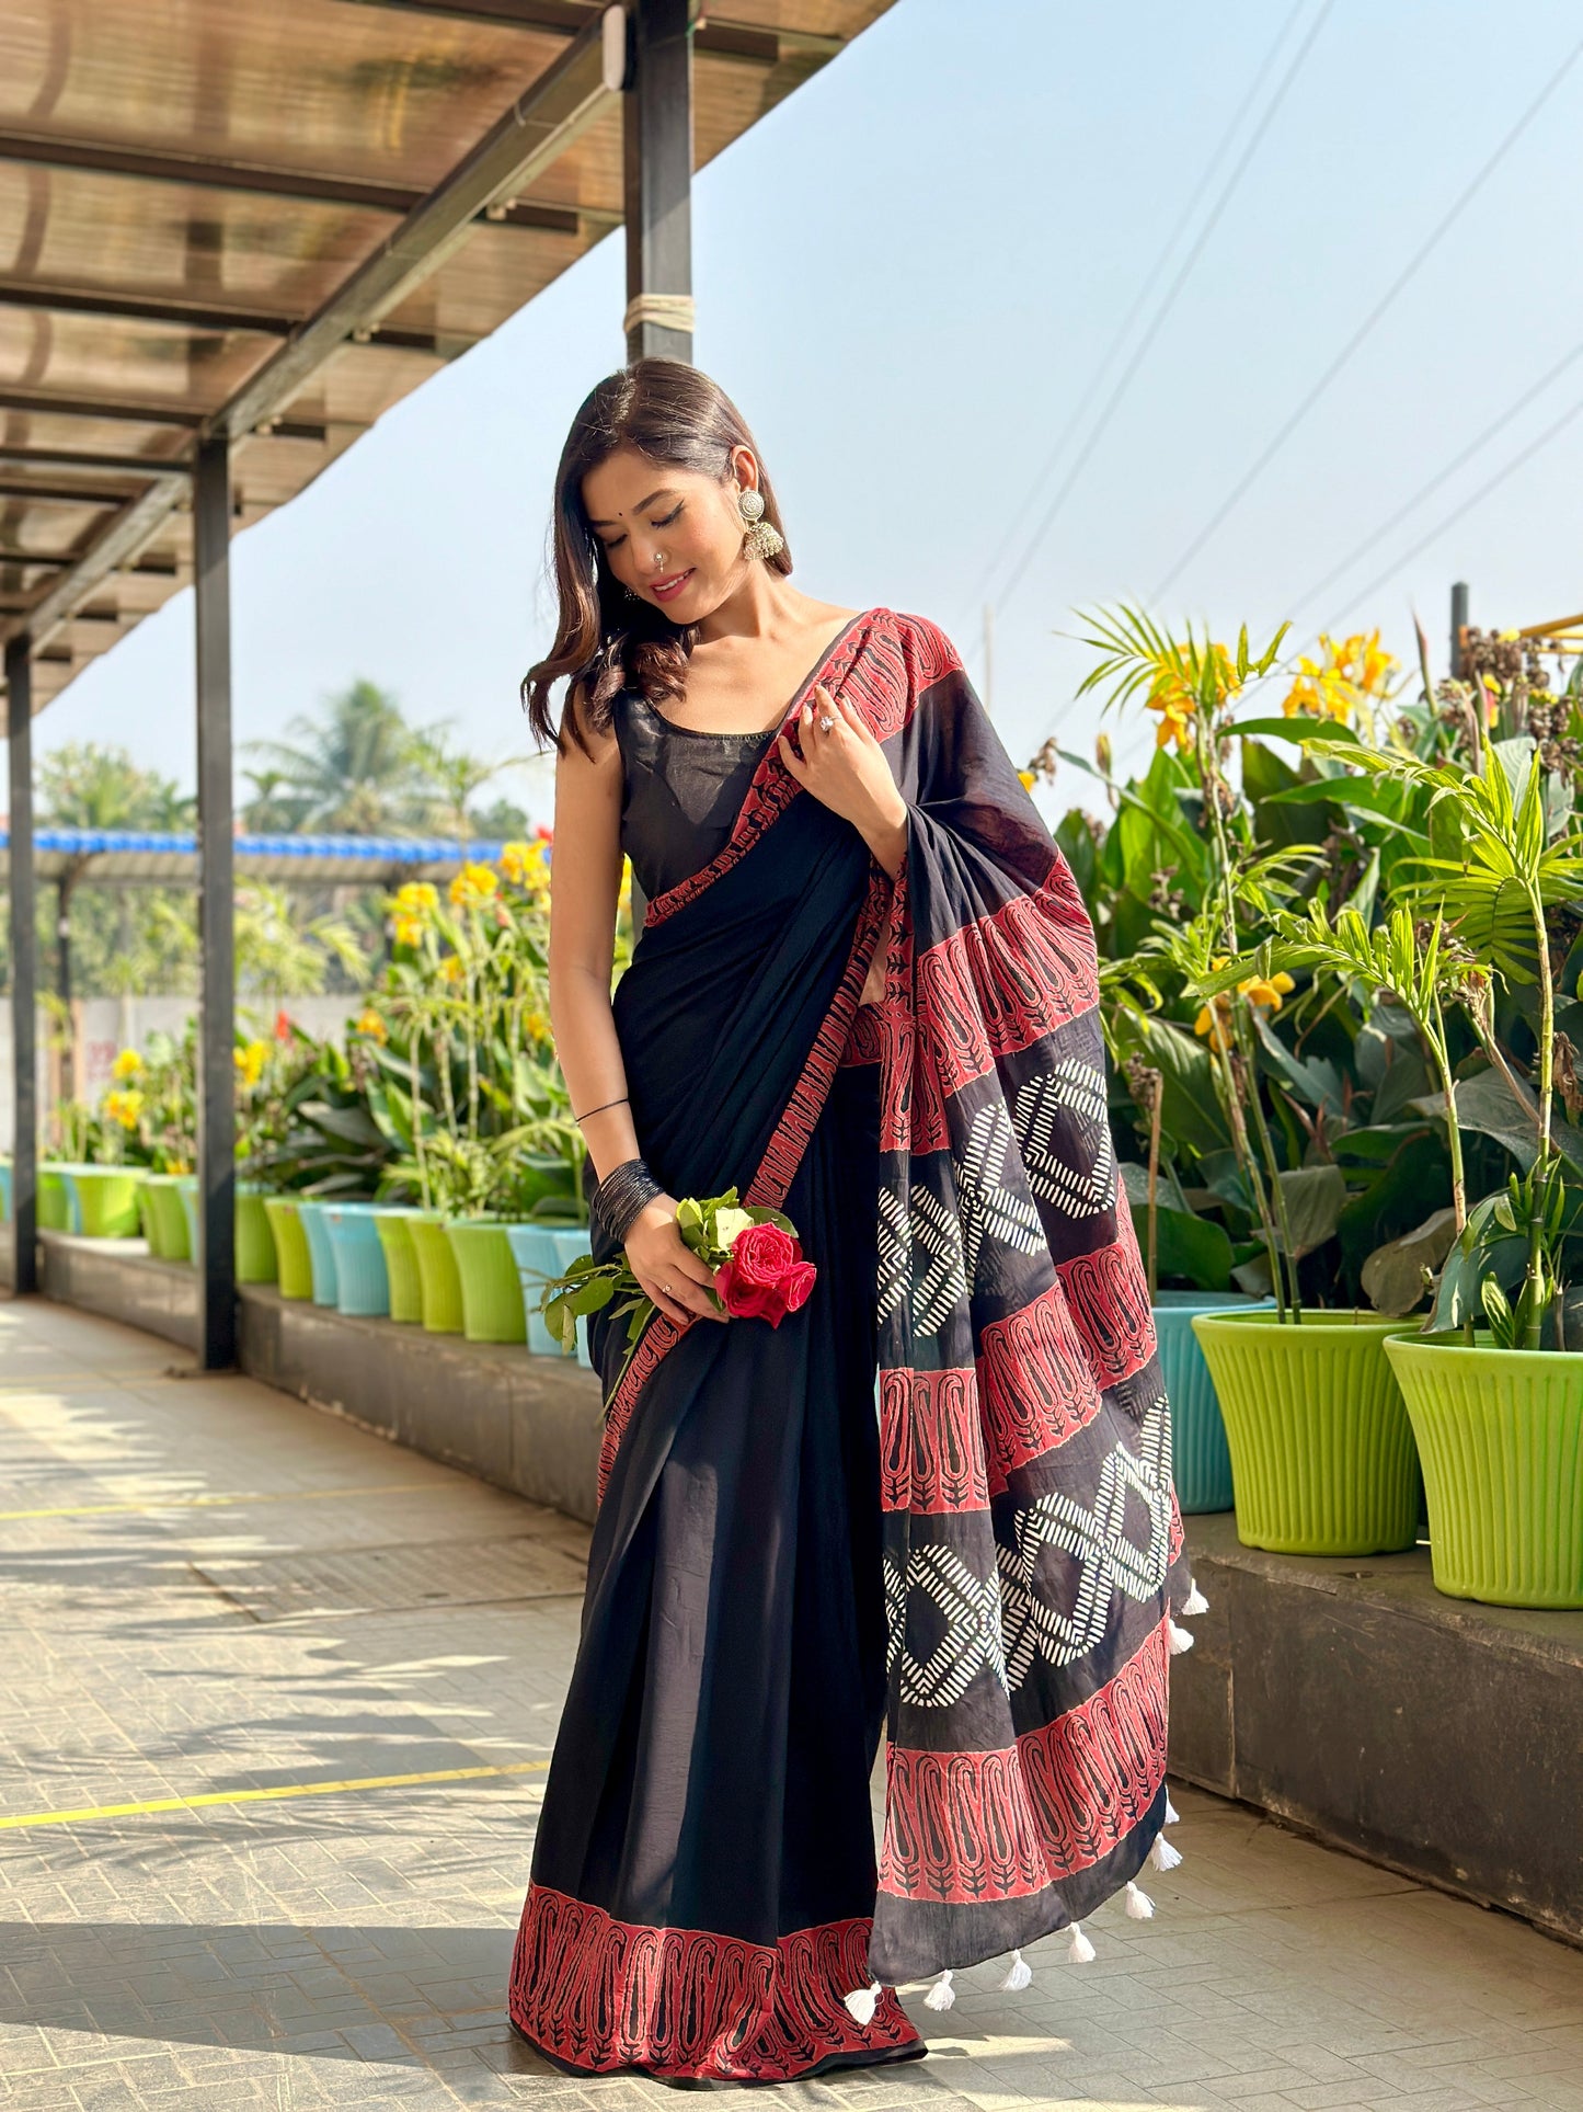
<svg viewBox="0 0 1583 2112">
<path fill-rule="evenodd" d="M 230 784 L 230 444 L 198 446 L 198 1362 L 236 1362 L 236 965 Z"/>
</svg>

